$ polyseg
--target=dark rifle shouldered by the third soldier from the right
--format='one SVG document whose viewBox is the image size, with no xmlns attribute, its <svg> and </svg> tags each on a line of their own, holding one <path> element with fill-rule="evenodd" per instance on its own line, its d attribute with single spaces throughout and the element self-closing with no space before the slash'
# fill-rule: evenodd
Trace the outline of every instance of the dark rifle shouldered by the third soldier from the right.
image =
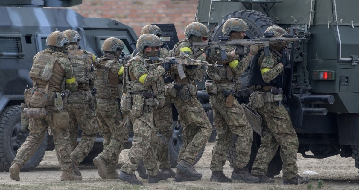
<svg viewBox="0 0 359 190">
<path fill-rule="evenodd" d="M 209 41 L 209 42 L 193 42 L 192 47 L 194 50 L 193 55 L 196 57 L 201 55 L 208 47 L 214 46 L 216 50 L 220 50 L 221 59 L 227 59 L 226 55 L 226 46 L 252 46 L 256 44 L 263 44 L 260 41 L 254 41 L 253 39 L 243 39 L 243 40 L 229 40 L 230 36 L 220 36 L 218 38 L 219 41 Z M 244 53 L 246 52 L 246 48 L 244 48 Z"/>
</svg>

